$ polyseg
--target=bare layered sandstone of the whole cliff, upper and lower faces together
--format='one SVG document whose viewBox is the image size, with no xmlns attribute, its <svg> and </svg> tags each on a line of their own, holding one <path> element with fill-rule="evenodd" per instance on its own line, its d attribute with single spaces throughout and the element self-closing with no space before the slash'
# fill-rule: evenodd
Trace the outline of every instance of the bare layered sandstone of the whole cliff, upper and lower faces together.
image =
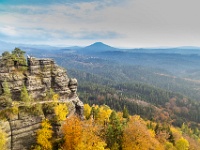
<svg viewBox="0 0 200 150">
<path fill-rule="evenodd" d="M 29 95 L 35 100 L 34 103 L 42 103 L 46 93 L 53 89 L 60 96 L 58 102 L 73 105 L 69 115 L 76 112 L 83 117 L 83 103 L 76 94 L 77 80 L 70 79 L 66 71 L 52 59 L 28 57 L 27 66 L 15 66 L 14 62 L 8 65 L 0 58 L 0 95 L 4 92 L 4 81 L 8 83 L 13 100 L 20 100 L 23 86 L 26 86 Z M 8 135 L 8 148 L 29 149 L 35 143 L 36 131 L 45 117 L 44 113 L 35 116 L 19 111 L 7 121 L 0 120 L 0 126 Z"/>
</svg>

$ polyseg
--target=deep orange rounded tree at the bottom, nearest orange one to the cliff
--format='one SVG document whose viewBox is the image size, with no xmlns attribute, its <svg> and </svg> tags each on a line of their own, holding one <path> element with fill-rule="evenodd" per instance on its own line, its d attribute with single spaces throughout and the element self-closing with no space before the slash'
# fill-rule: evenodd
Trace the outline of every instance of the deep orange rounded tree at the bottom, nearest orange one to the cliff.
<svg viewBox="0 0 200 150">
<path fill-rule="evenodd" d="M 77 116 L 67 118 L 62 126 L 64 134 L 64 149 L 75 150 L 82 139 L 82 125 Z"/>
</svg>

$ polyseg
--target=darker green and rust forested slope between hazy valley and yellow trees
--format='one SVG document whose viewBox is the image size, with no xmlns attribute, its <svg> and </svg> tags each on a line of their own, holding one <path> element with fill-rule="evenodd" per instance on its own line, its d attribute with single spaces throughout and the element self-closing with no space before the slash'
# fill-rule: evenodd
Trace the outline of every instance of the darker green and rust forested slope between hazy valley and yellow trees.
<svg viewBox="0 0 200 150">
<path fill-rule="evenodd" d="M 80 98 L 91 105 L 106 104 L 118 111 L 126 106 L 132 115 L 139 114 L 143 118 L 166 121 L 179 127 L 184 122 L 198 127 L 200 122 L 200 102 L 181 94 L 139 82 L 119 84 L 89 73 L 73 70 L 70 73 L 79 79 Z"/>
</svg>

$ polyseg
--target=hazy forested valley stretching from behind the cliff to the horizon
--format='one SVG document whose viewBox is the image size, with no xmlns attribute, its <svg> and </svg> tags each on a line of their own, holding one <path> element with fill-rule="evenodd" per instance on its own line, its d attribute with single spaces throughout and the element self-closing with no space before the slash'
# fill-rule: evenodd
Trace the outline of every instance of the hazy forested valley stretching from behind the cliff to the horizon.
<svg viewBox="0 0 200 150">
<path fill-rule="evenodd" d="M 196 49 L 120 50 L 103 45 L 105 50 L 93 51 L 99 44 L 40 55 L 54 58 L 70 77 L 78 79 L 84 102 L 120 111 L 126 106 L 131 114 L 179 127 L 184 122 L 199 126 L 200 56 Z"/>
</svg>

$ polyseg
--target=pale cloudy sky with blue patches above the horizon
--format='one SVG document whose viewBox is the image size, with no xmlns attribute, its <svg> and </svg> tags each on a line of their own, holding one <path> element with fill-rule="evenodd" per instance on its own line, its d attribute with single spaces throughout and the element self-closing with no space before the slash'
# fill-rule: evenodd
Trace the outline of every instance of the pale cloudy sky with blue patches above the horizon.
<svg viewBox="0 0 200 150">
<path fill-rule="evenodd" d="M 0 41 L 200 46 L 199 0 L 0 0 Z"/>
</svg>

